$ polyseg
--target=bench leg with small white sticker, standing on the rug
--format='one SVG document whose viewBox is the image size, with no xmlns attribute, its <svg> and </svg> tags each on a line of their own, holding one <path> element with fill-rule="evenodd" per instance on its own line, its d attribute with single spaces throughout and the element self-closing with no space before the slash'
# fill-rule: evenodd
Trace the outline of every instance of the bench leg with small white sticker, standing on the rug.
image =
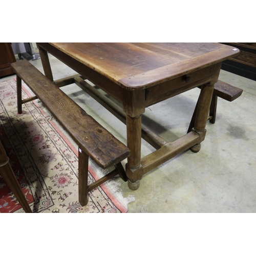
<svg viewBox="0 0 256 256">
<path fill-rule="evenodd" d="M 88 204 L 89 156 L 78 148 L 78 200 L 81 206 Z"/>
</svg>

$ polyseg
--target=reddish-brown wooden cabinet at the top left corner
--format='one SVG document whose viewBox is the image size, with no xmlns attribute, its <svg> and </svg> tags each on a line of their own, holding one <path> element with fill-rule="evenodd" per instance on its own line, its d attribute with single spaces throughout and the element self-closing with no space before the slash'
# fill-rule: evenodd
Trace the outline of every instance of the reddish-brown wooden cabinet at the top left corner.
<svg viewBox="0 0 256 256">
<path fill-rule="evenodd" d="M 15 61 L 11 43 L 0 42 L 0 77 L 14 74 L 10 65 Z"/>
</svg>

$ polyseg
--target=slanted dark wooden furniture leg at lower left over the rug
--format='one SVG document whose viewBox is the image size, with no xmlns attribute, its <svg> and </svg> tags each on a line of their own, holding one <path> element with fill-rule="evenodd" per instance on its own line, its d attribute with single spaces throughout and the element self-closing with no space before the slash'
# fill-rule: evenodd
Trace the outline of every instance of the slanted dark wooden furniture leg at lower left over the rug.
<svg viewBox="0 0 256 256">
<path fill-rule="evenodd" d="M 15 177 L 13 169 L 9 163 L 9 157 L 6 155 L 6 151 L 1 140 L 0 140 L 0 174 L 4 178 L 7 185 L 12 190 L 14 196 L 17 198 L 18 202 L 23 207 L 24 211 L 31 213 L 32 210 Z"/>
</svg>

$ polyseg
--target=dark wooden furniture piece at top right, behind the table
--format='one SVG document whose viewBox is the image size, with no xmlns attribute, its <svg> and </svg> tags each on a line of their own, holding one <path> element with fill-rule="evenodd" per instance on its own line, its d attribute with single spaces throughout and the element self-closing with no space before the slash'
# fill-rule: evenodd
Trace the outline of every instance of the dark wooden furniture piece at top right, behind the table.
<svg viewBox="0 0 256 256">
<path fill-rule="evenodd" d="M 221 69 L 256 81 L 256 42 L 224 42 L 241 53 L 222 63 Z"/>
</svg>

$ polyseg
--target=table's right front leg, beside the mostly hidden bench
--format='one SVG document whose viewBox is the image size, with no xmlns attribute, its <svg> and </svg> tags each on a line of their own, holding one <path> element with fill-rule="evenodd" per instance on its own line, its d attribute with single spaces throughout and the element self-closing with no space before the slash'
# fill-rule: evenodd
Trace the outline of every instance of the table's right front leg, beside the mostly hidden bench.
<svg viewBox="0 0 256 256">
<path fill-rule="evenodd" d="M 212 94 L 214 92 L 214 84 L 204 84 L 201 88 L 201 92 L 198 99 L 197 115 L 195 120 L 194 132 L 202 136 L 202 140 L 205 137 L 205 126 L 208 120 L 208 113 L 210 108 L 210 102 Z M 201 143 L 194 145 L 190 150 L 194 153 L 200 151 Z"/>
</svg>

